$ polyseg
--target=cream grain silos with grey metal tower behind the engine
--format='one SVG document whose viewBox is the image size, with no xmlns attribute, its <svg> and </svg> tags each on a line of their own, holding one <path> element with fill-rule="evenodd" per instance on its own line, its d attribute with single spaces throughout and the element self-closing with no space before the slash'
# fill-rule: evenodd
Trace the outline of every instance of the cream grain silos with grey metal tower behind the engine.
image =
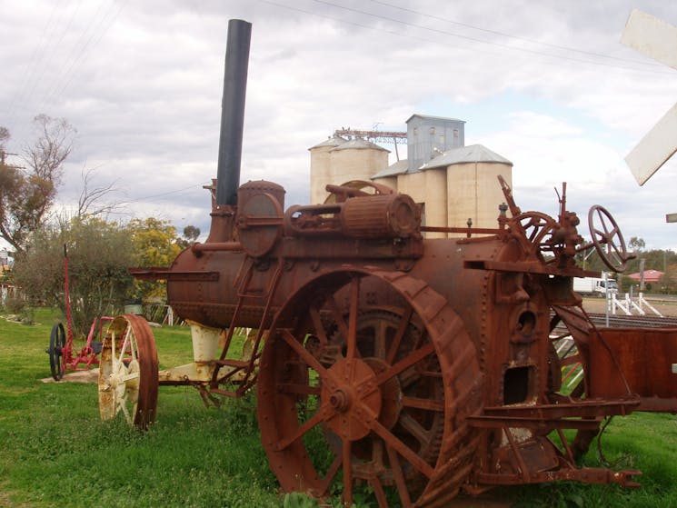
<svg viewBox="0 0 677 508">
<path fill-rule="evenodd" d="M 311 203 L 324 203 L 326 184 L 366 180 L 411 195 L 425 225 L 496 227 L 505 201 L 497 175 L 512 186 L 513 163 L 482 144 L 465 146 L 463 120 L 412 115 L 406 124 L 408 159 L 394 164 L 388 150 L 360 138 L 334 135 L 310 148 Z"/>
</svg>

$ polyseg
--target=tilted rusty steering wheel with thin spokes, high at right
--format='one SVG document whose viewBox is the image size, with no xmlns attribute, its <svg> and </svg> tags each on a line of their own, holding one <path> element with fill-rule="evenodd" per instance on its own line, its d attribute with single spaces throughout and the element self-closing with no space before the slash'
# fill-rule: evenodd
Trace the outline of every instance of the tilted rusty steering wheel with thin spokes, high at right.
<svg viewBox="0 0 677 508">
<path fill-rule="evenodd" d="M 592 244 L 602 261 L 614 272 L 625 270 L 628 260 L 634 257 L 625 246 L 621 229 L 606 208 L 595 204 L 588 212 L 588 226 Z"/>
</svg>

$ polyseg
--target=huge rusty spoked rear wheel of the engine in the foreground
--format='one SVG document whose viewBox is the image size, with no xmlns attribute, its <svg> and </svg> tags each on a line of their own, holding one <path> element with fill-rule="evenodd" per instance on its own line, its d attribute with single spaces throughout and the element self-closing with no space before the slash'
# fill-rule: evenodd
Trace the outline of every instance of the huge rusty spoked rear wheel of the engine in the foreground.
<svg viewBox="0 0 677 508">
<path fill-rule="evenodd" d="M 346 505 L 365 483 L 380 507 L 451 497 L 477 448 L 465 422 L 481 404 L 474 345 L 427 285 L 402 275 L 385 286 L 401 304 L 374 307 L 361 284 L 380 275 L 365 275 L 320 277 L 275 319 L 258 381 L 271 467 L 285 491 L 343 493 Z"/>
</svg>

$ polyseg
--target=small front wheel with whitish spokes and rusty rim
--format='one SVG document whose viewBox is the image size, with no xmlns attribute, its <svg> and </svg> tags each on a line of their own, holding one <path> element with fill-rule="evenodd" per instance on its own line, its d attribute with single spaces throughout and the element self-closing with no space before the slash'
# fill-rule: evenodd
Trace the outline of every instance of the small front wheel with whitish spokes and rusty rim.
<svg viewBox="0 0 677 508">
<path fill-rule="evenodd" d="M 145 429 L 154 422 L 158 387 L 157 350 L 143 317 L 124 314 L 105 334 L 99 362 L 99 412 L 102 420 L 118 413 Z"/>
</svg>

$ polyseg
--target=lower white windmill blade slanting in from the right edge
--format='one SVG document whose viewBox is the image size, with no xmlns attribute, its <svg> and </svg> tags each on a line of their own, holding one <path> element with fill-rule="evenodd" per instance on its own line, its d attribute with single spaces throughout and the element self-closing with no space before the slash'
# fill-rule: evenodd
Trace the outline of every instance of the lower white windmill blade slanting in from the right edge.
<svg viewBox="0 0 677 508">
<path fill-rule="evenodd" d="M 625 156 L 625 163 L 637 183 L 643 185 L 652 174 L 677 152 L 677 104 L 673 105 L 652 130 L 642 137 L 632 152 Z"/>
</svg>

